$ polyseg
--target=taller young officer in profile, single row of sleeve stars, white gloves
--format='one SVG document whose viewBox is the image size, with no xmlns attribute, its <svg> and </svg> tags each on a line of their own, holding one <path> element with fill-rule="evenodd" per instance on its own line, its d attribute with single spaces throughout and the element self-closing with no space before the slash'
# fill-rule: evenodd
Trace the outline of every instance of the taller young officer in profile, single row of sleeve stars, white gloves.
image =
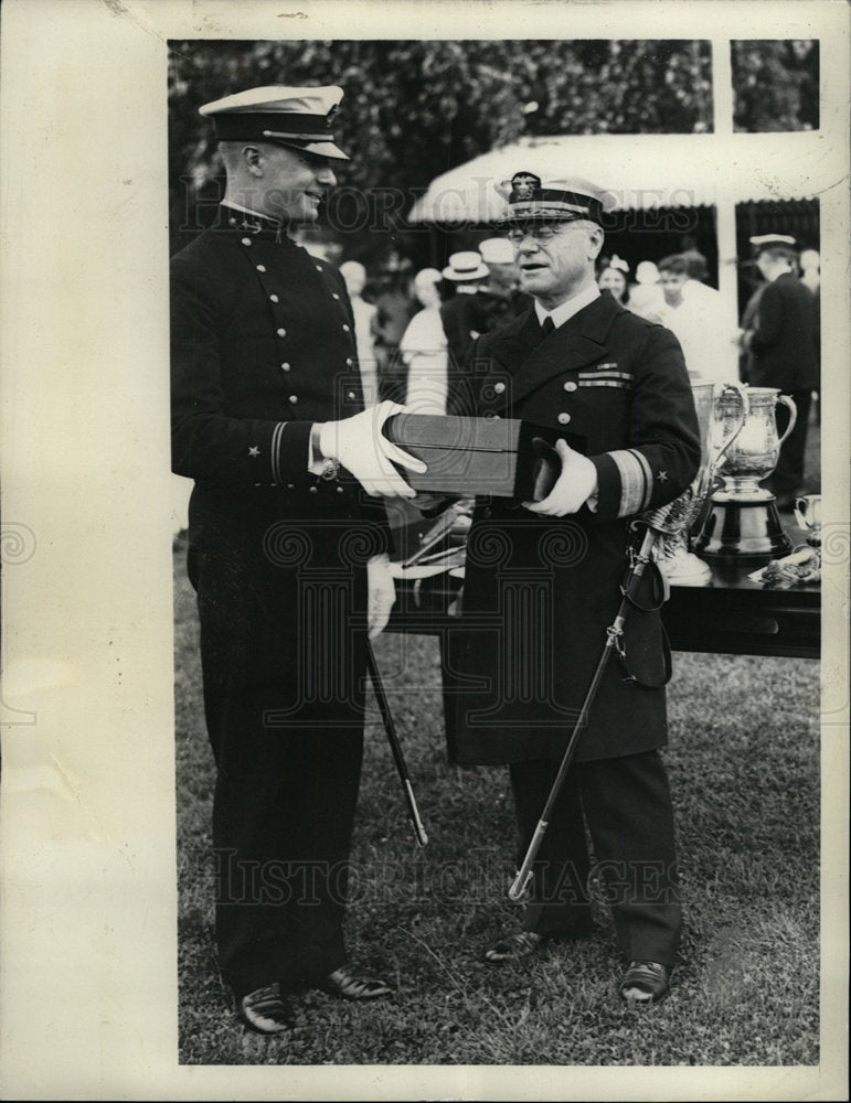
<svg viewBox="0 0 851 1103">
<path fill-rule="evenodd" d="M 241 1020 L 288 1025 L 288 993 L 390 986 L 347 961 L 347 866 L 368 631 L 393 600 L 380 495 L 412 496 L 363 408 L 337 270 L 288 236 L 348 160 L 336 87 L 255 88 L 208 104 L 227 173 L 220 217 L 171 268 L 172 458 L 194 479 L 219 965 Z M 368 581 L 369 579 L 369 581 Z"/>
</svg>

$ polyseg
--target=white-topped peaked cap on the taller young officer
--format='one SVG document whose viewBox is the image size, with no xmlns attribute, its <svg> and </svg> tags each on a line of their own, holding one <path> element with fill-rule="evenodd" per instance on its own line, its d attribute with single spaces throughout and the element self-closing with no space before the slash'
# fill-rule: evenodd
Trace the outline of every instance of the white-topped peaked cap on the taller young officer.
<svg viewBox="0 0 851 1103">
<path fill-rule="evenodd" d="M 333 140 L 334 116 L 342 98 L 343 90 L 337 85 L 269 85 L 204 104 L 199 113 L 213 119 L 220 141 L 268 141 L 348 161 L 349 156 Z"/>
</svg>

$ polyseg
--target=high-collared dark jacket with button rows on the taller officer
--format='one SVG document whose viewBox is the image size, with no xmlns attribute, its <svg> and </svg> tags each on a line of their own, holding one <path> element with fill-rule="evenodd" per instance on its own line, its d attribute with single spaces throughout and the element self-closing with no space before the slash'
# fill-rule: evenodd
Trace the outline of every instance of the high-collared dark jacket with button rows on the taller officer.
<svg viewBox="0 0 851 1103">
<path fill-rule="evenodd" d="M 190 538 L 222 522 L 352 515 L 353 481 L 308 473 L 315 421 L 363 409 L 354 319 L 336 268 L 222 208 L 172 258 L 172 467 L 195 480 Z"/>
</svg>

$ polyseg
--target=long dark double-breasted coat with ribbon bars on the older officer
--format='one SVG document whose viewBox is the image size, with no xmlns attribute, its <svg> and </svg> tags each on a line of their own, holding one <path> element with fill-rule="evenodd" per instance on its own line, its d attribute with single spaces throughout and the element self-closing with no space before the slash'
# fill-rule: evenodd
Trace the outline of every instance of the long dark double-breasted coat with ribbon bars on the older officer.
<svg viewBox="0 0 851 1103">
<path fill-rule="evenodd" d="M 465 383 L 469 413 L 563 433 L 597 470 L 596 512 L 555 518 L 477 502 L 460 630 L 448 642 L 457 761 L 560 759 L 620 603 L 630 520 L 698 471 L 688 372 L 669 330 L 600 296 L 543 340 L 533 310 L 483 335 Z M 658 612 L 630 609 L 626 650 L 641 683 L 664 682 Z M 663 688 L 629 676 L 609 662 L 577 761 L 664 743 Z"/>
</svg>

